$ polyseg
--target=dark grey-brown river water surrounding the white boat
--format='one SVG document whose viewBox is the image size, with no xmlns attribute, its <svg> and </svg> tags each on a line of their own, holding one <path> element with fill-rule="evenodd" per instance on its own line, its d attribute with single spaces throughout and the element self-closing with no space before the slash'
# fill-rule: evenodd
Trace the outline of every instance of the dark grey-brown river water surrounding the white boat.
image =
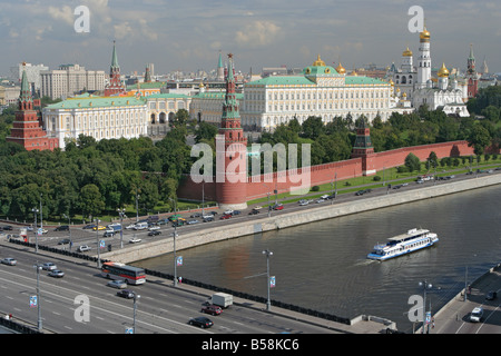
<svg viewBox="0 0 501 356">
<path fill-rule="evenodd" d="M 374 315 L 412 332 L 410 296 L 419 283 L 433 288 L 426 305 L 436 313 L 501 261 L 501 186 L 307 224 L 178 251 L 177 275 L 266 297 L 266 256 L 276 286 L 272 299 L 355 317 Z M 377 243 L 422 227 L 438 245 L 384 263 L 366 259 Z M 135 263 L 174 274 L 173 255 Z"/>
</svg>

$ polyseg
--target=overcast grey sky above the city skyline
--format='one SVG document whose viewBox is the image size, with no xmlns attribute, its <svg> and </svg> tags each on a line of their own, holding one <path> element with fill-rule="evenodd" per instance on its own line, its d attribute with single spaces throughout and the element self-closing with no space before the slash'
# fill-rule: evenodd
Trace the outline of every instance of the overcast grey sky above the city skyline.
<svg viewBox="0 0 501 356">
<path fill-rule="evenodd" d="M 77 33 L 78 6 L 90 11 L 89 32 Z M 409 46 L 412 6 L 424 10 L 432 66 L 464 69 L 470 50 L 480 67 L 501 71 L 501 7 L 461 0 L 0 0 L 0 73 L 26 61 L 56 69 L 79 63 L 109 71 L 117 41 L 122 73 L 209 71 L 219 50 L 234 53 L 237 70 L 304 68 L 317 53 L 346 69 L 400 66 Z"/>
</svg>

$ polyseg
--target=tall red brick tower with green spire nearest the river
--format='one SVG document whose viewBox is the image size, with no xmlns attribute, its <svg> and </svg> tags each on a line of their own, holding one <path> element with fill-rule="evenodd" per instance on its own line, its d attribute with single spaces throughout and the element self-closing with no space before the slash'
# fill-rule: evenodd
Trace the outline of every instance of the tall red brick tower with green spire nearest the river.
<svg viewBox="0 0 501 356">
<path fill-rule="evenodd" d="M 216 136 L 216 196 L 223 209 L 247 207 L 247 139 L 240 126 L 233 55 L 228 55 L 226 95 Z"/>
</svg>

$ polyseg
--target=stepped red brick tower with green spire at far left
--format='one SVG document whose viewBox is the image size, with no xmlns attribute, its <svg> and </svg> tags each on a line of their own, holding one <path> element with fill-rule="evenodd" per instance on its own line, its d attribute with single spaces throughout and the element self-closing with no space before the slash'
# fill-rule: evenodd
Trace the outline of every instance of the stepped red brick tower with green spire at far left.
<svg viewBox="0 0 501 356">
<path fill-rule="evenodd" d="M 27 150 L 53 150 L 59 147 L 58 139 L 47 136 L 36 108 L 40 108 L 40 99 L 33 100 L 26 70 L 22 70 L 18 111 L 16 111 L 16 120 L 12 122 L 10 136 L 6 140 L 19 144 Z"/>
</svg>

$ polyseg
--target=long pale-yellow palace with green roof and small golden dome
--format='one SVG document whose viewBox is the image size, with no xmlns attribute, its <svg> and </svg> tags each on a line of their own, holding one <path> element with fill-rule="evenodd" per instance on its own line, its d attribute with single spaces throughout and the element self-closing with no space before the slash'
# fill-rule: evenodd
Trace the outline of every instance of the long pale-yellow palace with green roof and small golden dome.
<svg viewBox="0 0 501 356">
<path fill-rule="evenodd" d="M 335 117 L 364 115 L 371 121 L 383 121 L 393 112 L 392 85 L 381 79 L 346 76 L 318 58 L 301 76 L 271 76 L 244 86 L 242 126 L 248 130 L 273 131 L 276 126 L 296 118 L 299 123 L 310 116 L 324 122 Z"/>
</svg>

